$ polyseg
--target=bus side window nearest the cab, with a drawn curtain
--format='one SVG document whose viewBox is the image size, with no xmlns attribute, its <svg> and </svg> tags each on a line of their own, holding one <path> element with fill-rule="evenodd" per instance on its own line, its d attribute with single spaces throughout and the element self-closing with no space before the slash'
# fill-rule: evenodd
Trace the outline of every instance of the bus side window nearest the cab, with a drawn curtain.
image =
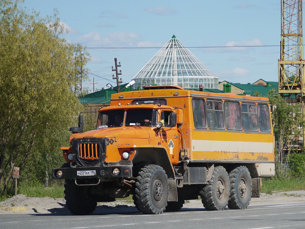
<svg viewBox="0 0 305 229">
<path fill-rule="evenodd" d="M 206 111 L 204 100 L 193 99 L 192 105 L 195 128 L 206 128 Z"/>
</svg>

